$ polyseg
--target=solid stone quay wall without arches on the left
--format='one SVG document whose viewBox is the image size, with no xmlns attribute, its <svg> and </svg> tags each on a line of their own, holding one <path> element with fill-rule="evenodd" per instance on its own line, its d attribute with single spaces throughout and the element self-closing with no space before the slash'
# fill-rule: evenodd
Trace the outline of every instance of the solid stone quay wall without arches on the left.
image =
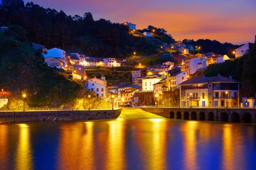
<svg viewBox="0 0 256 170">
<path fill-rule="evenodd" d="M 0 123 L 116 119 L 122 109 L 100 111 L 0 112 Z"/>
</svg>

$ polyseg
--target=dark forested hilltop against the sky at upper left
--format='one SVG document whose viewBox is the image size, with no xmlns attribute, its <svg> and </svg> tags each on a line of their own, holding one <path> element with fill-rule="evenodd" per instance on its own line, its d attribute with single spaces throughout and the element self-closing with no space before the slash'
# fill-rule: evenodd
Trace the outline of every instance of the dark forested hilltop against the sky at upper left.
<svg viewBox="0 0 256 170">
<path fill-rule="evenodd" d="M 128 26 L 112 23 L 110 20 L 93 20 L 86 12 L 83 17 L 70 15 L 64 11 L 43 8 L 22 0 L 5 0 L 0 7 L 0 26 L 9 26 L 18 33 L 20 41 L 35 42 L 47 48 L 80 47 L 91 57 L 127 57 L 137 54 L 154 54 L 157 42 L 148 43 L 145 37 L 133 36 Z M 161 29 L 161 35 L 165 35 Z M 165 39 L 172 40 L 166 34 Z"/>
</svg>

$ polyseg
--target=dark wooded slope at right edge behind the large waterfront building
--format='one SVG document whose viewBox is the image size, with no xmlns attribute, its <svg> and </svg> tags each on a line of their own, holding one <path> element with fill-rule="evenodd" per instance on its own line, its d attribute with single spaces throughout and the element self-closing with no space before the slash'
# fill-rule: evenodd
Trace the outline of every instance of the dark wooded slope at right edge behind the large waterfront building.
<svg viewBox="0 0 256 170">
<path fill-rule="evenodd" d="M 248 54 L 233 61 L 209 65 L 204 72 L 207 77 L 218 76 L 218 73 L 225 77 L 231 75 L 233 79 L 241 81 L 243 96 L 256 97 L 256 36 Z"/>
</svg>

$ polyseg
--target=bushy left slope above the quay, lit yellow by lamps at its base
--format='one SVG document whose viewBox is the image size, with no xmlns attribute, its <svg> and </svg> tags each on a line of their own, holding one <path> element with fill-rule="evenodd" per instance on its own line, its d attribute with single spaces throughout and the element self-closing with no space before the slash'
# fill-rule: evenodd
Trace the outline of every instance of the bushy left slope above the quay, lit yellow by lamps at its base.
<svg viewBox="0 0 256 170">
<path fill-rule="evenodd" d="M 22 108 L 23 94 L 27 96 L 26 107 L 76 108 L 87 100 L 82 82 L 49 68 L 40 51 L 3 34 L 0 34 L 0 87 L 9 98 L 7 108 Z"/>
</svg>

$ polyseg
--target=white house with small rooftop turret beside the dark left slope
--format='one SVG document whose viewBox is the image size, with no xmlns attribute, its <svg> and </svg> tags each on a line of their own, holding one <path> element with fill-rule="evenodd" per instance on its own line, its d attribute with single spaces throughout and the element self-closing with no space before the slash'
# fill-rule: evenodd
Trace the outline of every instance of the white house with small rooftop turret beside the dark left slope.
<svg viewBox="0 0 256 170">
<path fill-rule="evenodd" d="M 96 97 L 102 97 L 106 98 L 106 86 L 107 86 L 107 81 L 105 80 L 105 76 L 102 75 L 102 79 L 97 79 L 94 77 L 93 79 L 88 80 L 88 90 L 91 92 L 95 92 Z"/>
</svg>

